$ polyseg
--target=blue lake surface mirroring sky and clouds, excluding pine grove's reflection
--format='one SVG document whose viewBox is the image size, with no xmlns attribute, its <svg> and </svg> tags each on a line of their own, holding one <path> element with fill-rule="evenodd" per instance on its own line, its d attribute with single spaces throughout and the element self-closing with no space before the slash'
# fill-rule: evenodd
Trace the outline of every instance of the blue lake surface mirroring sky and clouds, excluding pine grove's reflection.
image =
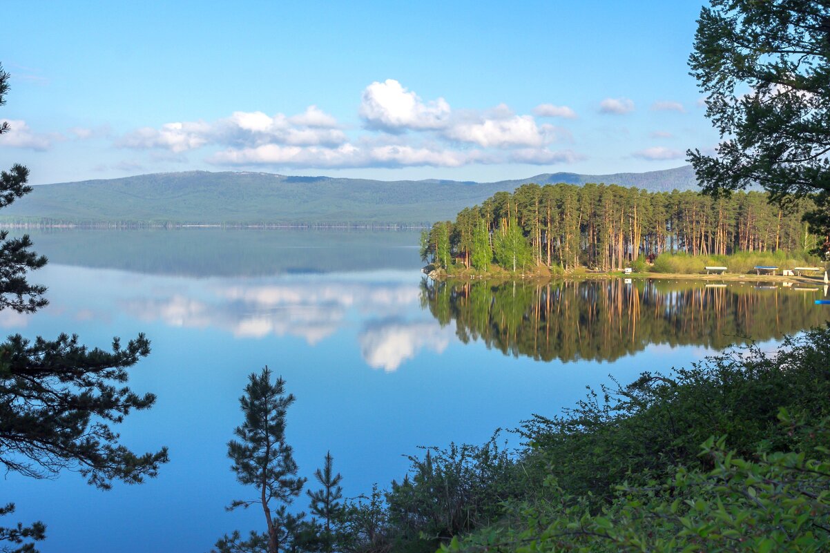
<svg viewBox="0 0 830 553">
<path fill-rule="evenodd" d="M 417 445 L 481 443 L 495 428 L 515 428 L 530 414 L 556 414 L 609 373 L 625 382 L 708 351 L 660 345 L 613 364 L 563 364 L 502 355 L 481 340 L 464 343 L 455 321 L 442 324 L 421 304 L 413 232 L 367 233 L 353 242 L 325 233 L 257 234 L 259 243 L 291 241 L 297 267 L 309 266 L 327 240 L 337 242 L 340 259 L 360 261 L 331 267 L 317 260 L 307 273 L 284 271 L 274 260 L 263 261 L 271 269 L 260 272 L 254 261 L 237 275 L 222 265 L 230 256 L 215 247 L 185 252 L 187 244 L 177 242 L 185 270 L 177 255 L 159 251 L 164 235 L 117 234 L 33 237 L 51 257 L 33 279 L 49 286 L 51 305 L 34 316 L 0 311 L 0 327 L 29 337 L 76 332 L 83 343 L 102 347 L 114 335 L 126 340 L 145 332 L 153 352 L 134 369 L 130 385 L 154 392 L 158 403 L 130 414 L 120 430 L 135 450 L 167 445 L 171 462 L 155 480 L 116 484 L 110 492 L 71 473 L 39 482 L 7 474 L 3 500 L 17 503 L 16 520 L 48 525 L 44 553 L 196 553 L 224 532 L 259 528 L 260 513 L 223 507 L 247 495 L 228 470 L 226 443 L 241 422 L 237 398 L 247 374 L 263 365 L 281 374 L 297 398 L 287 438 L 301 472 L 310 477 L 330 450 L 346 495 L 356 496 L 373 482 L 383 487 L 402 477 L 403 454 Z M 227 243 L 214 238 L 187 236 L 236 247 L 246 235 L 237 231 Z M 119 242 L 125 240 L 129 248 Z M 95 242 L 111 253 L 95 252 Z M 359 254 L 350 256 L 349 247 Z M 124 262 L 119 252 L 127 251 L 144 259 Z M 150 258 L 154 251 L 164 262 Z M 199 257 L 203 251 L 211 252 L 210 260 Z M 303 497 L 298 505 L 305 508 Z"/>
</svg>

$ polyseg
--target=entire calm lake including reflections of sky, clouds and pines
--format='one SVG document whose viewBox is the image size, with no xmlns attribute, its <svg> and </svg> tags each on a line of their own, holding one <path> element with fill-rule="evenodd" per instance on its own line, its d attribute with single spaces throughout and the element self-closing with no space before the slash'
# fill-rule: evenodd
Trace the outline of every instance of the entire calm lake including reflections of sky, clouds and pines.
<svg viewBox="0 0 830 553">
<path fill-rule="evenodd" d="M 32 232 L 50 263 L 30 278 L 50 305 L 0 311 L 7 334 L 76 333 L 108 347 L 148 335 L 129 385 L 153 392 L 122 441 L 167 445 L 158 478 L 101 492 L 63 472 L 6 475 L 14 520 L 46 522 L 44 553 L 209 551 L 261 512 L 226 457 L 247 375 L 268 365 L 296 396 L 287 440 L 312 477 L 327 451 L 347 497 L 388 486 L 417 446 L 483 443 L 531 414 L 554 415 L 585 386 L 669 371 L 747 337 L 781 337 L 828 318 L 824 291 L 750 283 L 427 281 L 417 232 L 67 230 Z M 516 438 L 505 435 L 513 445 Z M 297 505 L 305 508 L 307 498 Z M 8 522 L 8 521 L 7 521 Z"/>
</svg>

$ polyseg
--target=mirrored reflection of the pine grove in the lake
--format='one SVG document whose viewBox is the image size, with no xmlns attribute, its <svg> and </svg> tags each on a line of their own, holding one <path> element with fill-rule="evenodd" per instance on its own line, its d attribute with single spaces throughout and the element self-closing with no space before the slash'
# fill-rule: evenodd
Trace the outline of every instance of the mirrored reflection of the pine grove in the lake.
<svg viewBox="0 0 830 553">
<path fill-rule="evenodd" d="M 536 360 L 616 360 L 649 344 L 703 345 L 780 339 L 823 325 L 813 296 L 787 289 L 704 287 L 700 282 L 486 281 L 424 279 L 422 306 L 463 342 L 484 340 Z"/>
</svg>

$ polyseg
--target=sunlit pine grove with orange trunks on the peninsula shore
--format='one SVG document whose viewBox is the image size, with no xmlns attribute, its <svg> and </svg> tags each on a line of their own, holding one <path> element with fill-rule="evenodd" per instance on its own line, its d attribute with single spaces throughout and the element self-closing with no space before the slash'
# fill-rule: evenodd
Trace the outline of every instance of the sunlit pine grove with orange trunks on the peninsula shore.
<svg viewBox="0 0 830 553">
<path fill-rule="evenodd" d="M 486 272 L 495 263 L 509 271 L 608 271 L 663 252 L 810 250 L 818 237 L 802 218 L 813 208 L 808 198 L 784 208 L 755 191 L 712 198 L 615 184 L 524 184 L 433 224 L 422 232 L 421 257 L 445 270 Z"/>
</svg>

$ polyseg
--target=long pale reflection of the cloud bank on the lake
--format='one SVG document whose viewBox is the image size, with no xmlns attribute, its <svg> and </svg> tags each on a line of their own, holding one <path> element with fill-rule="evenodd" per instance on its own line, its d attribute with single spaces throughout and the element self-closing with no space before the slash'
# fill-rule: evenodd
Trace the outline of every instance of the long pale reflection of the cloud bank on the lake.
<svg viewBox="0 0 830 553">
<path fill-rule="evenodd" d="M 294 335 L 315 345 L 345 324 L 349 309 L 375 316 L 397 315 L 418 301 L 419 291 L 417 286 L 401 283 L 288 282 L 226 286 L 213 282 L 205 289 L 183 286 L 176 292 L 159 296 L 162 297 L 125 301 L 122 306 L 144 321 L 214 327 L 241 338 Z"/>
</svg>

